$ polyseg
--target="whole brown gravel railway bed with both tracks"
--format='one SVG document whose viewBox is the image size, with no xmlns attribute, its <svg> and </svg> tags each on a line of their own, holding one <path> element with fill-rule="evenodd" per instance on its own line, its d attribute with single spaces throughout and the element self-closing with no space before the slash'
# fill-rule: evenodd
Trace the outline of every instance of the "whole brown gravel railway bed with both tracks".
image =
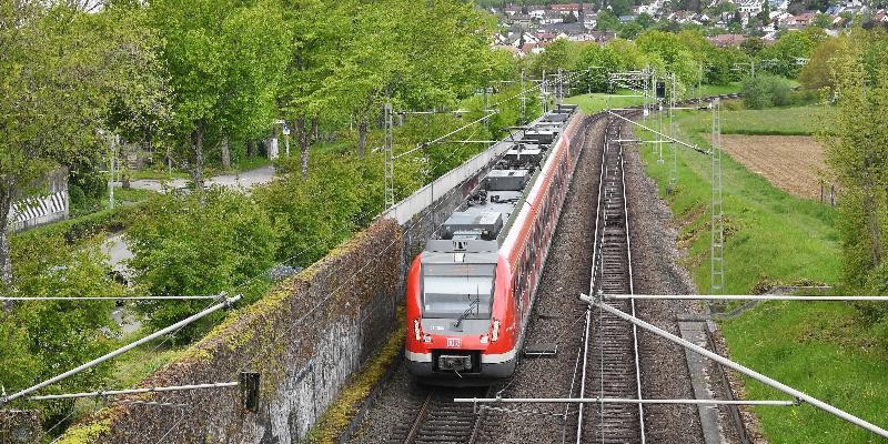
<svg viewBox="0 0 888 444">
<path fill-rule="evenodd" d="M 632 119 L 638 112 L 623 111 L 623 115 Z M 571 183 L 525 343 L 525 346 L 551 343 L 557 346 L 557 354 L 537 359 L 525 355 L 515 375 L 484 389 L 418 385 L 402 364 L 357 427 L 359 432 L 345 442 L 707 442 L 695 406 L 645 405 L 643 408 L 630 403 L 594 403 L 582 407 L 576 404 L 509 404 L 509 408 L 503 408 L 453 402 L 455 397 L 496 396 L 693 397 L 683 351 L 666 350 L 668 346 L 645 336 L 630 323 L 598 310 L 587 310 L 585 303 L 577 301 L 581 292 L 595 294 L 601 290 L 629 294 L 656 291 L 664 285 L 673 289 L 683 285 L 672 282 L 676 278 L 663 270 L 652 271 L 648 266 L 633 270 L 633 263 L 648 265 L 649 262 L 645 261 L 657 261 L 648 256 L 659 254 L 659 251 L 647 251 L 650 245 L 646 243 L 649 242 L 642 242 L 640 255 L 633 258 L 638 228 L 630 226 L 630 222 L 636 223 L 630 216 L 638 212 L 638 203 L 633 203 L 632 199 L 639 191 L 635 184 L 628 183 L 628 170 L 632 169 L 625 164 L 627 151 L 624 149 L 635 150 L 636 145 L 615 141 L 634 137 L 628 123 L 606 112 L 586 119 L 585 148 L 579 160 L 583 167 L 577 168 Z M 630 151 L 628 154 L 636 157 L 637 163 L 637 154 Z M 637 168 L 633 167 L 635 170 L 632 172 L 636 181 L 639 175 Z M 634 186 L 635 191 L 627 190 Z M 642 192 L 647 191 L 649 189 Z M 663 276 L 652 278 L 656 273 Z M 664 281 L 670 284 L 664 284 Z M 629 300 L 613 300 L 609 304 L 640 317 L 663 317 L 660 322 L 673 325 L 676 324 L 675 313 L 693 310 L 692 305 L 675 304 L 664 309 L 648 301 L 638 307 Z M 659 370 L 664 365 L 664 355 L 674 362 Z M 678 375 L 675 373 L 677 370 L 682 372 Z M 717 395 L 728 395 L 724 392 L 729 392 L 729 389 L 722 386 L 720 381 L 714 383 Z M 729 415 L 723 416 L 723 423 L 730 422 Z M 682 421 L 676 421 L 678 417 Z M 743 427 L 741 424 L 729 425 L 734 426 Z M 728 432 L 724 437 L 729 443 L 740 442 L 736 435 L 736 432 Z"/>
</svg>

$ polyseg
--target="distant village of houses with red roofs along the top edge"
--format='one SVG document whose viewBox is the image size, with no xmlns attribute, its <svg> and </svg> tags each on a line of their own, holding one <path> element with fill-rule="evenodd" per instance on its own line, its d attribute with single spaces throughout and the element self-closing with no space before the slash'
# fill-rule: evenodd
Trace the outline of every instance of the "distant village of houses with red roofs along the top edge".
<svg viewBox="0 0 888 444">
<path fill-rule="evenodd" d="M 860 0 L 840 0 L 824 12 L 799 10 L 799 4 L 789 0 L 714 0 L 708 7 L 698 8 L 700 11 L 673 10 L 674 3 L 653 0 L 617 10 L 612 6 L 598 9 L 594 3 L 508 4 L 490 11 L 500 18 L 496 46 L 518 58 L 542 53 L 558 39 L 599 44 L 617 37 L 632 40 L 655 24 L 673 30 L 700 29 L 709 41 L 723 48 L 739 47 L 753 37 L 767 44 L 781 32 L 814 26 L 829 34 L 857 21 L 868 27 L 888 27 L 888 9 L 872 8 Z"/>
</svg>

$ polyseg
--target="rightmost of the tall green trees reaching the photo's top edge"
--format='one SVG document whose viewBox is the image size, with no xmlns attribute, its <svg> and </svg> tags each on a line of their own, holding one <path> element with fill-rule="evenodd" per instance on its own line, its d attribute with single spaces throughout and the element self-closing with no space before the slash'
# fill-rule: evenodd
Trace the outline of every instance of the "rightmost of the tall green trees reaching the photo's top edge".
<svg viewBox="0 0 888 444">
<path fill-rule="evenodd" d="M 357 123 L 357 153 L 366 151 L 371 120 L 386 101 L 414 109 L 453 104 L 478 84 L 490 56 L 490 18 L 472 4 L 434 0 L 351 0 L 352 33 L 321 90 Z"/>
</svg>

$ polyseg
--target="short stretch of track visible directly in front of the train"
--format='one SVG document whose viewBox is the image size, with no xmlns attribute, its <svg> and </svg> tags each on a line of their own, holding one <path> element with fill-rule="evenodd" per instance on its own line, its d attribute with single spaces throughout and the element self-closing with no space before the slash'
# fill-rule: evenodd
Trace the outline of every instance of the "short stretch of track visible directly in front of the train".
<svg viewBox="0 0 888 444">
<path fill-rule="evenodd" d="M 454 403 L 455 397 L 484 397 L 488 387 L 427 389 L 415 398 L 416 416 L 396 427 L 386 441 L 398 444 L 473 444 L 478 437 L 482 414 L 472 404 Z"/>
</svg>

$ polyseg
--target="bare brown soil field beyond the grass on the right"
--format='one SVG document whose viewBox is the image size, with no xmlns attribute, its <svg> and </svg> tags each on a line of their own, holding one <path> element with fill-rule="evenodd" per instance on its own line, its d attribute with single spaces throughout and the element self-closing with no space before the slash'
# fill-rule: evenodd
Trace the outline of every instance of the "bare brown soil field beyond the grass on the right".
<svg viewBox="0 0 888 444">
<path fill-rule="evenodd" d="M 780 190 L 820 200 L 819 179 L 826 176 L 827 167 L 824 147 L 814 138 L 726 134 L 722 142 L 731 158 Z"/>
</svg>

